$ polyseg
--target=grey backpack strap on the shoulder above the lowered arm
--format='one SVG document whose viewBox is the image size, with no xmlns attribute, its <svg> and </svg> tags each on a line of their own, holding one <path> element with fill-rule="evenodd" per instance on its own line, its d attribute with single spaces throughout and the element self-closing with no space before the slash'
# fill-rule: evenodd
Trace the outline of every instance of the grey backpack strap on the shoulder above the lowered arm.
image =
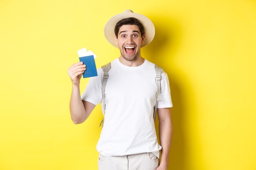
<svg viewBox="0 0 256 170">
<path fill-rule="evenodd" d="M 160 91 L 161 91 L 161 73 L 163 73 L 164 69 L 157 66 L 157 64 L 155 64 L 155 72 L 156 72 L 156 82 L 157 82 L 157 101 L 155 102 L 155 107 L 154 107 L 154 121 L 156 119 L 157 116 L 157 106 L 158 106 L 158 102 L 161 102 L 161 97 L 160 97 Z"/>
</svg>

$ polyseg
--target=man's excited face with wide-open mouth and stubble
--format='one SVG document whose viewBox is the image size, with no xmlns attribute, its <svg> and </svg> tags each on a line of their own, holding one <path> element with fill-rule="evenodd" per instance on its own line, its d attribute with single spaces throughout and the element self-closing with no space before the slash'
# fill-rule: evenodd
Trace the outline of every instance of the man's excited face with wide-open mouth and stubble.
<svg viewBox="0 0 256 170">
<path fill-rule="evenodd" d="M 145 35 L 141 37 L 137 25 L 123 25 L 119 29 L 116 44 L 124 59 L 132 61 L 140 54 L 141 43 L 144 42 L 144 39 Z"/>
</svg>

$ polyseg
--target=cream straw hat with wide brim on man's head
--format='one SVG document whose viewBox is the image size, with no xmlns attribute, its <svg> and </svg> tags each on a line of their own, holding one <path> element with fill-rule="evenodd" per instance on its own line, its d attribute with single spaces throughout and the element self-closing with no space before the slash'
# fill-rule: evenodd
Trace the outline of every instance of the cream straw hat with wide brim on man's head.
<svg viewBox="0 0 256 170">
<path fill-rule="evenodd" d="M 118 45 L 115 42 L 115 26 L 117 22 L 124 18 L 130 17 L 138 19 L 139 22 L 141 22 L 141 24 L 144 26 L 145 40 L 141 44 L 141 47 L 149 44 L 153 40 L 155 36 L 155 27 L 150 19 L 139 13 L 133 13 L 130 9 L 126 9 L 123 13 L 119 13 L 110 18 L 110 20 L 108 20 L 107 24 L 104 27 L 104 35 L 108 42 L 110 42 L 110 44 L 112 44 L 113 46 L 118 48 Z"/>
</svg>

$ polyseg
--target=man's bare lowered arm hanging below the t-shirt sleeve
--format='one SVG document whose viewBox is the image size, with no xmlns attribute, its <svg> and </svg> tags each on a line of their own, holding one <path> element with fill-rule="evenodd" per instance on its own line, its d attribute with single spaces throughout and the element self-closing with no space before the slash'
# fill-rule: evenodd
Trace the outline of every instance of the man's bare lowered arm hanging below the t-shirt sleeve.
<svg viewBox="0 0 256 170">
<path fill-rule="evenodd" d="M 159 119 L 159 139 L 162 150 L 161 163 L 156 170 L 167 170 L 173 133 L 171 122 L 171 108 L 158 108 L 157 114 Z"/>
</svg>

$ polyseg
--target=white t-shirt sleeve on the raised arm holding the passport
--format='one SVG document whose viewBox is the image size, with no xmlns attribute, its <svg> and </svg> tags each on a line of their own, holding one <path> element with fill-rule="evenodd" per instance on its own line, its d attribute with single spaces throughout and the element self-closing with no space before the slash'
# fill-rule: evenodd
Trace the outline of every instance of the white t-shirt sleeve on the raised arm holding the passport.
<svg viewBox="0 0 256 170">
<path fill-rule="evenodd" d="M 101 77 L 102 77 L 102 68 L 97 69 L 98 76 L 90 77 L 89 82 L 85 88 L 85 91 L 81 95 L 81 99 L 87 102 L 90 102 L 94 105 L 97 105 L 101 102 Z"/>
</svg>

